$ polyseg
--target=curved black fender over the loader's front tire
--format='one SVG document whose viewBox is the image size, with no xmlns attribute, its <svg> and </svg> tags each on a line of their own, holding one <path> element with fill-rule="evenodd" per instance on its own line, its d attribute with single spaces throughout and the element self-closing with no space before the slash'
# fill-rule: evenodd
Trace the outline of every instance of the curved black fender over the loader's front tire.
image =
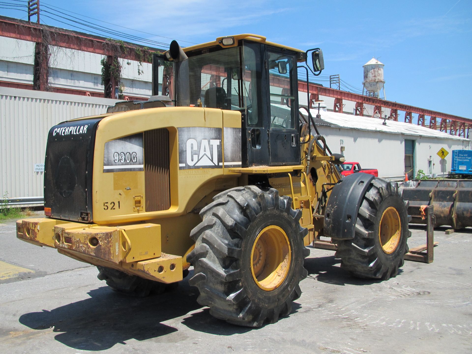
<svg viewBox="0 0 472 354">
<path fill-rule="evenodd" d="M 337 240 L 354 238 L 357 213 L 372 179 L 373 175 L 358 172 L 343 177 L 333 187 L 326 203 L 324 236 Z"/>
</svg>

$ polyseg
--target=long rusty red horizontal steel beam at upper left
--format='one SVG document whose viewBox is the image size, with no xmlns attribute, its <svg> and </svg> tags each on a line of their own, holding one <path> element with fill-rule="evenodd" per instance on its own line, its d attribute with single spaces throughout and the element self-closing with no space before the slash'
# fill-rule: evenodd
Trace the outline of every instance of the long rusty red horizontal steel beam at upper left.
<svg viewBox="0 0 472 354">
<path fill-rule="evenodd" d="M 117 55 L 123 59 L 151 63 L 147 55 L 140 58 L 136 49 L 143 50 L 143 46 L 116 41 L 107 41 L 103 37 L 92 34 L 83 34 L 76 31 L 69 31 L 59 27 L 38 25 L 36 23 L 0 16 L 0 36 L 20 39 L 23 41 L 42 43 L 43 38 L 48 38 L 48 44 L 57 47 L 75 49 L 77 51 L 88 51 L 101 55 Z M 161 52 L 157 48 L 147 49 L 151 52 Z"/>
</svg>

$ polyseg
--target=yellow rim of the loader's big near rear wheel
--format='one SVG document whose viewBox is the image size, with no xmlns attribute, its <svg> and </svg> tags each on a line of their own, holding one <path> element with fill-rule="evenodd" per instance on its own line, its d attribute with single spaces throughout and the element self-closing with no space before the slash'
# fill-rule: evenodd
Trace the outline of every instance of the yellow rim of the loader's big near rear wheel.
<svg viewBox="0 0 472 354">
<path fill-rule="evenodd" d="M 275 225 L 263 228 L 251 250 L 251 272 L 262 290 L 277 289 L 290 269 L 290 242 L 284 230 Z"/>
</svg>

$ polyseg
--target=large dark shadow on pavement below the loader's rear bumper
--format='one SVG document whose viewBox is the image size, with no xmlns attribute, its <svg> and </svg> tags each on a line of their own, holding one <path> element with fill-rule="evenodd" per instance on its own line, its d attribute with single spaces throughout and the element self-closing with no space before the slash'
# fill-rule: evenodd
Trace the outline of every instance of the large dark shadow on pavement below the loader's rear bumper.
<svg viewBox="0 0 472 354">
<path fill-rule="evenodd" d="M 21 315 L 20 323 L 32 329 L 53 328 L 54 339 L 82 350 L 109 349 L 131 338 L 142 341 L 165 336 L 176 328 L 160 322 L 183 316 L 200 307 L 197 291 L 183 281 L 176 290 L 145 298 L 130 297 L 99 287 L 90 298 L 51 311 Z"/>
</svg>

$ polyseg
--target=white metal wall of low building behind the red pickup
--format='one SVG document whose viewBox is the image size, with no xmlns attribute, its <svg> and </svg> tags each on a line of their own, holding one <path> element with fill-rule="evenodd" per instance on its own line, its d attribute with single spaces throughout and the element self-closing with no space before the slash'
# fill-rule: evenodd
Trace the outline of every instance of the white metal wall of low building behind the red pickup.
<svg viewBox="0 0 472 354">
<path fill-rule="evenodd" d="M 451 155 L 453 150 L 469 149 L 469 141 L 457 139 L 441 139 L 407 134 L 389 134 L 358 130 L 355 128 L 341 128 L 335 126 L 318 126 L 320 133 L 325 136 L 331 152 L 341 153 L 341 146 L 345 147 L 346 161 L 359 162 L 362 168 L 379 170 L 379 177 L 405 176 L 405 139 L 415 141 L 415 174 L 422 169 L 428 171 L 428 160 L 431 159 L 432 173 L 442 174 L 451 169 Z M 436 154 L 441 147 L 449 155 L 444 159 L 445 165 L 440 165 L 440 158 Z"/>
</svg>

